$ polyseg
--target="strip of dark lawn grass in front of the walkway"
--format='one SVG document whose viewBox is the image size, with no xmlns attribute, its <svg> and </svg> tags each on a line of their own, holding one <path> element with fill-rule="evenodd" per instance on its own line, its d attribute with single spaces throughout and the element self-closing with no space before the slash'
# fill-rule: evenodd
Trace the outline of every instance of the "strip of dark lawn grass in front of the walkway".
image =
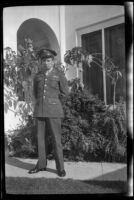
<svg viewBox="0 0 134 200">
<path fill-rule="evenodd" d="M 123 181 L 6 177 L 7 194 L 120 194 L 126 190 Z"/>
</svg>

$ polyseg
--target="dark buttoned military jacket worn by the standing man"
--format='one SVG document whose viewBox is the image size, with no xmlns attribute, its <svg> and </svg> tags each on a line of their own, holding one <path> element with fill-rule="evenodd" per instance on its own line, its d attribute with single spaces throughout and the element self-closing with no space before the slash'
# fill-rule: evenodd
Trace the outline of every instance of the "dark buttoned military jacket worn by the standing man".
<svg viewBox="0 0 134 200">
<path fill-rule="evenodd" d="M 36 99 L 33 116 L 64 117 L 60 94 L 68 95 L 68 84 L 64 73 L 55 67 L 48 75 L 43 71 L 38 72 L 33 82 L 33 95 Z"/>
</svg>

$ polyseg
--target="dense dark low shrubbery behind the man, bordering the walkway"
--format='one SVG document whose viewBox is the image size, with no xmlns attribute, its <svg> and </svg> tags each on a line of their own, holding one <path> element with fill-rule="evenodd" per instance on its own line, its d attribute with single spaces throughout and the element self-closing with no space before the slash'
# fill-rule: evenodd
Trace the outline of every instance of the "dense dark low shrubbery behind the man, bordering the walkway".
<svg viewBox="0 0 134 200">
<path fill-rule="evenodd" d="M 62 99 L 65 112 L 62 121 L 65 158 L 75 161 L 126 162 L 125 103 L 121 100 L 116 109 L 110 109 L 105 107 L 104 102 L 97 96 L 82 90 L 78 79 L 69 82 L 69 86 L 71 87 L 69 97 Z M 31 146 L 24 139 L 20 144 L 19 138 L 14 135 L 12 146 L 19 143 L 16 154 L 19 152 L 20 155 L 21 152 L 23 155 L 37 156 L 36 131 L 32 118 L 31 126 L 28 128 L 27 125 L 18 135 L 27 138 Z M 48 152 L 51 154 L 51 137 L 48 143 Z"/>
</svg>

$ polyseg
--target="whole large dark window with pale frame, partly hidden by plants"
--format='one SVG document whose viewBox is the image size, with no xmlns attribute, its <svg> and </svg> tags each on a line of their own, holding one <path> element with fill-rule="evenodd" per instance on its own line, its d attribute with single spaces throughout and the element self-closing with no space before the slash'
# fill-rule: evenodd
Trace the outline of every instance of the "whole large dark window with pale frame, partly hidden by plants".
<svg viewBox="0 0 134 200">
<path fill-rule="evenodd" d="M 102 53 L 113 59 L 119 66 L 123 78 L 118 80 L 116 101 L 126 97 L 126 67 L 125 67 L 125 26 L 124 17 L 100 22 L 89 27 L 77 30 L 77 45 L 84 47 L 90 53 Z M 111 104 L 113 86 L 109 77 L 106 77 L 99 67 L 84 66 L 83 82 L 92 94 L 98 94 L 105 103 Z"/>
</svg>

